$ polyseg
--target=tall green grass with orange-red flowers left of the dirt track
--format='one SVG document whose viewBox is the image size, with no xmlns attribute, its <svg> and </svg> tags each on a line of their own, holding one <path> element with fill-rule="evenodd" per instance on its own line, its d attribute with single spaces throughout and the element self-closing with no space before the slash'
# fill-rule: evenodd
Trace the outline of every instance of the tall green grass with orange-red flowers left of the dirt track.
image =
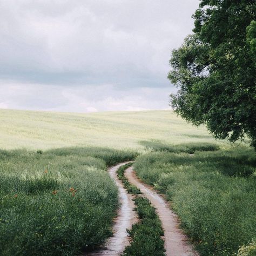
<svg viewBox="0 0 256 256">
<path fill-rule="evenodd" d="M 74 255 L 102 245 L 118 207 L 106 167 L 135 157 L 96 147 L 0 151 L 0 254 Z"/>
</svg>

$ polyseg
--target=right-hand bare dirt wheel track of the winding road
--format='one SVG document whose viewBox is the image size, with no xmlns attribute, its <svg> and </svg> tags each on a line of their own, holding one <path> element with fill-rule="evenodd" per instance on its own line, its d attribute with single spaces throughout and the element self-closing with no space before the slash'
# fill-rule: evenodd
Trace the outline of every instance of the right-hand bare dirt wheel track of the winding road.
<svg viewBox="0 0 256 256">
<path fill-rule="evenodd" d="M 179 221 L 176 214 L 174 214 L 168 203 L 159 196 L 151 187 L 144 185 L 134 173 L 132 166 L 125 172 L 126 178 L 131 184 L 138 187 L 151 204 L 156 208 L 159 215 L 163 229 L 165 250 L 167 256 L 198 256 L 191 245 L 187 243 L 186 235 L 184 235 L 179 226 Z"/>
</svg>

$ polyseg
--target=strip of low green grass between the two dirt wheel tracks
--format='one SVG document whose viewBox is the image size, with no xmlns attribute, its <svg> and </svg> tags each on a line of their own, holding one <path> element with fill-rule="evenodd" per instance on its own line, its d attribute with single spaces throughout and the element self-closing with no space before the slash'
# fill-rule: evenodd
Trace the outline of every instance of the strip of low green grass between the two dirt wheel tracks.
<svg viewBox="0 0 256 256">
<path fill-rule="evenodd" d="M 161 238 L 164 235 L 164 231 L 161 227 L 161 221 L 150 201 L 139 195 L 141 194 L 139 188 L 131 185 L 125 177 L 124 172 L 130 166 L 132 166 L 132 163 L 119 167 L 117 174 L 127 192 L 136 195 L 133 200 L 139 221 L 132 225 L 131 230 L 127 230 L 132 241 L 129 246 L 125 247 L 122 255 L 164 256 L 164 240 Z"/>
</svg>

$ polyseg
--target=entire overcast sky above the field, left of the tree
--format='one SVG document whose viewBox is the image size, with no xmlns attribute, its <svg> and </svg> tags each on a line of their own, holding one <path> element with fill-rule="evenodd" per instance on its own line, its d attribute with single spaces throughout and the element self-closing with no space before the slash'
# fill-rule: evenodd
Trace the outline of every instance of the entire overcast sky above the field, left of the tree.
<svg viewBox="0 0 256 256">
<path fill-rule="evenodd" d="M 167 109 L 198 0 L 0 0 L 0 108 Z"/>
</svg>

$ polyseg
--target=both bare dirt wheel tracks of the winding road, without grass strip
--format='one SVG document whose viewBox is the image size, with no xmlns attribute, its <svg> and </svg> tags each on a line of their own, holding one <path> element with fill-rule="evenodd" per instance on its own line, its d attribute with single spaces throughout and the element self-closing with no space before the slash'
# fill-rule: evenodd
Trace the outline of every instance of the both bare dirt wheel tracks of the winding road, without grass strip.
<svg viewBox="0 0 256 256">
<path fill-rule="evenodd" d="M 137 221 L 136 214 L 133 211 L 134 204 L 131 194 L 128 194 L 122 185 L 122 182 L 117 178 L 117 169 L 126 163 L 113 166 L 109 169 L 111 178 L 115 181 L 119 189 L 120 208 L 118 216 L 114 221 L 113 237 L 107 240 L 103 250 L 94 251 L 86 255 L 120 255 L 125 246 L 129 245 L 129 237 L 127 236 L 126 229 L 131 228 L 132 224 Z M 192 246 L 188 244 L 187 237 L 179 228 L 179 221 L 177 215 L 172 212 L 170 205 L 165 199 L 140 181 L 129 167 L 125 176 L 129 179 L 130 183 L 137 186 L 143 193 L 142 196 L 148 198 L 161 220 L 164 229 L 165 250 L 167 256 L 196 256 L 198 253 L 193 250 Z"/>
</svg>

